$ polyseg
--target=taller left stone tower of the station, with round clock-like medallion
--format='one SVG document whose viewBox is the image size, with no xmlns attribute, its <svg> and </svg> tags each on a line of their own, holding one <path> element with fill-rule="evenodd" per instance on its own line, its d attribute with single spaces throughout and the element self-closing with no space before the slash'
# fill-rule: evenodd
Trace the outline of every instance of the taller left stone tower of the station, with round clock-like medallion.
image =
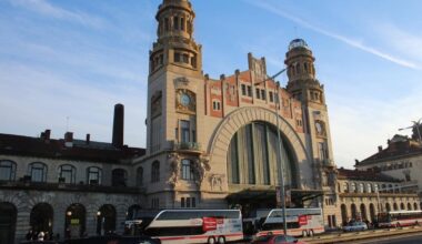
<svg viewBox="0 0 422 244">
<path fill-rule="evenodd" d="M 188 0 L 163 0 L 155 16 L 143 169 L 151 172 L 147 191 L 151 207 L 174 207 L 181 199 L 193 205 L 199 200 L 202 151 L 198 138 L 202 132 L 198 129 L 204 119 L 198 114 L 204 114 L 204 78 L 201 45 L 193 40 L 194 17 Z M 188 181 L 192 179 L 195 184 Z M 184 196 L 184 192 L 189 193 Z"/>
</svg>

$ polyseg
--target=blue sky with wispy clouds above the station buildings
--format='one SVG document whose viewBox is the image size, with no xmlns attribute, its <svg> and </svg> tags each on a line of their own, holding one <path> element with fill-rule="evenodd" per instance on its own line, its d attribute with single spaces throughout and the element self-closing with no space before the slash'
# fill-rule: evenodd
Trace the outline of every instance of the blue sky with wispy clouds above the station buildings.
<svg viewBox="0 0 422 244">
<path fill-rule="evenodd" d="M 145 146 L 148 54 L 160 2 L 0 0 L 0 133 L 51 129 L 62 138 L 68 128 L 76 138 L 111 141 L 113 105 L 123 103 L 125 143 Z M 421 1 L 191 2 L 203 70 L 213 78 L 245 70 L 248 52 L 277 73 L 289 42 L 307 40 L 325 85 L 339 166 L 370 156 L 422 116 Z"/>
</svg>

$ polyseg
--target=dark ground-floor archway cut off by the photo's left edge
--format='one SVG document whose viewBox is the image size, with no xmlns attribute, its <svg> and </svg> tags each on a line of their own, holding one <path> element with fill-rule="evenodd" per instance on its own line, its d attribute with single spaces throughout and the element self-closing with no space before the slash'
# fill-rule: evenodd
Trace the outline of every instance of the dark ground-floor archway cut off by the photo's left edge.
<svg viewBox="0 0 422 244">
<path fill-rule="evenodd" d="M 13 243 L 17 209 L 11 203 L 0 203 L 0 244 Z"/>
</svg>

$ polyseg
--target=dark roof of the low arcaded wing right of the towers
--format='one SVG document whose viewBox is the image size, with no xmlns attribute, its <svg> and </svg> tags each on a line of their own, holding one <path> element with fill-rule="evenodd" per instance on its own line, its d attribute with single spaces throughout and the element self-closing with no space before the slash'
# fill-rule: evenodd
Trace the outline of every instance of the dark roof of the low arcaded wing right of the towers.
<svg viewBox="0 0 422 244">
<path fill-rule="evenodd" d="M 400 182 L 394 177 L 388 176 L 380 172 L 374 171 L 358 171 L 348 170 L 344 167 L 338 169 L 339 179 L 354 180 L 354 181 L 381 181 L 381 182 Z"/>
</svg>

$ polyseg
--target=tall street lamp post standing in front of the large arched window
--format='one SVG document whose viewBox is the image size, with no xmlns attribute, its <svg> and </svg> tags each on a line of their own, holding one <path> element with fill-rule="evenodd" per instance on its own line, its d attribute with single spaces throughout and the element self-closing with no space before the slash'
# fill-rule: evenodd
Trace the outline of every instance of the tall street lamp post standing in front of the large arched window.
<svg viewBox="0 0 422 244">
<path fill-rule="evenodd" d="M 263 83 L 268 80 L 274 80 L 277 77 L 285 72 L 285 68 L 275 73 L 274 75 L 258 82 L 255 84 Z M 279 118 L 279 109 L 280 109 L 280 96 L 279 96 L 279 90 L 280 90 L 280 82 L 275 82 L 275 120 L 277 120 L 277 139 L 278 139 L 278 146 L 277 146 L 277 155 L 280 159 L 280 166 L 279 166 L 279 176 L 280 176 L 280 194 L 281 194 L 281 207 L 283 210 L 283 232 L 284 235 L 288 234 L 288 223 L 285 222 L 285 190 L 284 190 L 284 167 L 283 167 L 283 162 L 282 162 L 282 156 L 281 156 L 281 150 L 283 146 L 283 142 L 281 141 L 281 134 L 280 134 L 280 118 Z"/>
</svg>

